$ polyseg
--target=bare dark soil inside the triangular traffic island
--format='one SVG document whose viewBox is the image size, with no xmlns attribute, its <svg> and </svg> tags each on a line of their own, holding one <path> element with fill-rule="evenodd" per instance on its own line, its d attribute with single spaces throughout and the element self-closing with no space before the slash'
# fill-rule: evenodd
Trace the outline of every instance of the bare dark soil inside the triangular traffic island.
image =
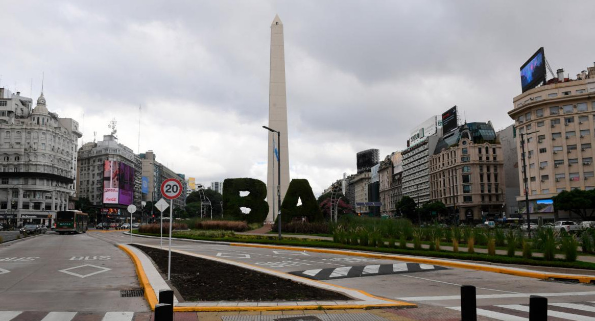
<svg viewBox="0 0 595 321">
<path fill-rule="evenodd" d="M 167 250 L 134 245 L 167 275 Z M 242 267 L 171 253 L 171 285 L 184 301 L 348 301 L 337 292 Z"/>
</svg>

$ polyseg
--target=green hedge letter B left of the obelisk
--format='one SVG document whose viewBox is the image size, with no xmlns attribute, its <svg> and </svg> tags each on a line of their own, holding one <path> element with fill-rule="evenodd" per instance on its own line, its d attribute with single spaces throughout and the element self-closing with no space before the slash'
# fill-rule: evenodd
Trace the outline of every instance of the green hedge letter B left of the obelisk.
<svg viewBox="0 0 595 321">
<path fill-rule="evenodd" d="M 240 196 L 240 191 L 248 191 Z M 267 184 L 254 178 L 227 178 L 223 181 L 223 215 L 228 218 L 262 223 L 267 219 Z M 240 207 L 248 207 L 250 213 L 242 213 Z"/>
</svg>

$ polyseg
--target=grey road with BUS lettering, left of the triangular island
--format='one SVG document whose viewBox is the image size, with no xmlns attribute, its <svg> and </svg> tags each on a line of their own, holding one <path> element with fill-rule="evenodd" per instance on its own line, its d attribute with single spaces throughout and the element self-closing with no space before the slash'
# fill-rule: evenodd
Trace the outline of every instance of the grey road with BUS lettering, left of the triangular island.
<svg viewBox="0 0 595 321">
<path fill-rule="evenodd" d="M 150 311 L 143 297 L 120 297 L 140 288 L 130 257 L 89 234 L 1 244 L 0 311 Z"/>
</svg>

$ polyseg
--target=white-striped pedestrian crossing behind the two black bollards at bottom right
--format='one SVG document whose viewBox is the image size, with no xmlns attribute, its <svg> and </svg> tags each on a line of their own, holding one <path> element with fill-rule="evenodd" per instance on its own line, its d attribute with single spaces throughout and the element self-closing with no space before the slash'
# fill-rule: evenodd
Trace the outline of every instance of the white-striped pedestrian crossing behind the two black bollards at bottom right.
<svg viewBox="0 0 595 321">
<path fill-rule="evenodd" d="M 461 311 L 461 307 L 447 309 Z M 502 321 L 529 320 L 528 304 L 500 304 L 478 306 L 477 315 Z M 595 321 L 595 301 L 574 303 L 550 303 L 547 305 L 548 320 Z"/>
</svg>

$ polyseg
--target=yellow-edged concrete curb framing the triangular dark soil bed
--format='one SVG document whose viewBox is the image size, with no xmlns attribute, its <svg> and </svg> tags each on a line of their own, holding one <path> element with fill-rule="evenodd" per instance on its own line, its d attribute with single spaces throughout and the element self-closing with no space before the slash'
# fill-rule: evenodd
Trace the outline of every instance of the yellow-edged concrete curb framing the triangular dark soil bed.
<svg viewBox="0 0 595 321">
<path fill-rule="evenodd" d="M 159 248 L 158 246 L 151 246 L 148 244 L 139 244 L 143 246 Z M 163 282 L 161 276 L 153 275 L 152 278 L 148 277 L 148 273 L 145 272 L 145 265 L 142 260 L 137 257 L 134 253 L 137 249 L 132 249 L 130 246 L 125 244 L 118 245 L 123 251 L 125 251 L 132 259 L 136 266 L 137 275 L 139 276 L 139 282 L 145 289 L 145 298 L 151 306 L 151 310 L 155 309 L 157 302 L 155 283 L 159 281 Z M 189 253 L 181 250 L 172 250 L 176 253 L 201 257 L 202 259 L 215 260 L 226 264 L 236 265 L 247 269 L 258 270 L 262 273 L 267 273 L 275 276 L 279 276 L 285 279 L 292 279 L 293 281 L 307 284 L 310 286 L 328 289 L 330 291 L 341 292 L 349 297 L 358 299 L 359 301 L 308 301 L 308 302 L 200 302 L 200 303 L 176 303 L 174 302 L 174 311 L 273 311 L 273 310 L 316 310 L 316 309 L 369 309 L 378 307 L 392 307 L 392 308 L 406 308 L 406 307 L 417 307 L 416 304 L 407 303 L 403 301 L 390 300 L 386 298 L 376 297 L 368 294 L 364 291 L 358 291 L 355 289 L 349 289 L 340 287 L 337 285 L 327 284 L 321 281 L 315 281 L 308 278 L 302 278 L 300 276 L 289 275 L 287 273 L 278 272 L 275 270 L 265 269 L 264 267 L 252 266 L 245 263 L 233 262 L 225 259 L 213 259 L 212 257 L 202 256 L 200 254 Z M 159 278 L 157 280 L 156 278 Z"/>
</svg>

